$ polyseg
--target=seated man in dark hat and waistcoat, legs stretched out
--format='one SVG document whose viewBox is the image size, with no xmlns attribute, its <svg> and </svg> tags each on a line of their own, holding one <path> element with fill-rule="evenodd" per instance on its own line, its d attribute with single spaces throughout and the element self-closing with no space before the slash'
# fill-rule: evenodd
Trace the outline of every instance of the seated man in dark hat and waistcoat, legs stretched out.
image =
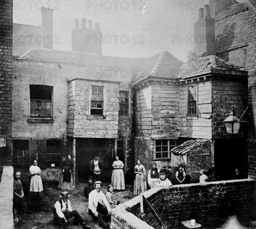
<svg viewBox="0 0 256 229">
<path fill-rule="evenodd" d="M 87 226 L 85 221 L 81 218 L 81 215 L 77 211 L 72 211 L 71 204 L 69 201 L 70 195 L 68 192 L 61 192 L 60 199 L 55 203 L 55 211 L 53 219 L 58 223 L 60 229 L 65 229 L 67 225 L 67 219 L 74 217 L 74 225 L 79 223 L 83 226 L 83 229 L 91 228 Z"/>
</svg>

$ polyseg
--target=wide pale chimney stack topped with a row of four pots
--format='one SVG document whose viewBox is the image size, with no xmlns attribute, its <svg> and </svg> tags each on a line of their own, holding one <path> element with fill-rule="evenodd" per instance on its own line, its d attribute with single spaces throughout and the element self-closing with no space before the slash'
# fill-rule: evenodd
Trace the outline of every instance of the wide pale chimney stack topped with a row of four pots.
<svg viewBox="0 0 256 229">
<path fill-rule="evenodd" d="M 88 22 L 82 18 L 81 28 L 79 20 L 75 20 L 75 28 L 72 30 L 72 51 L 102 54 L 102 32 L 99 30 L 99 23 Z"/>
</svg>

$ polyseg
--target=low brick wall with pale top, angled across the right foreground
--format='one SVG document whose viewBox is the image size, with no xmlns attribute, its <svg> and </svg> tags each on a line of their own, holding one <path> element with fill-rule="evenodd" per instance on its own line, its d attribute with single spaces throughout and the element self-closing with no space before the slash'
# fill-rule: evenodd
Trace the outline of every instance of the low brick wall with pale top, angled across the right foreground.
<svg viewBox="0 0 256 229">
<path fill-rule="evenodd" d="M 244 179 L 174 185 L 168 189 L 154 188 L 143 195 L 167 228 L 178 228 L 180 221 L 191 218 L 204 226 L 218 227 L 230 215 L 250 220 L 255 212 L 255 183 L 254 180 Z M 139 196 L 112 212 L 112 226 L 122 229 L 161 228 L 154 216 L 149 214 L 149 209 L 144 212 L 153 227 L 139 218 Z"/>
</svg>

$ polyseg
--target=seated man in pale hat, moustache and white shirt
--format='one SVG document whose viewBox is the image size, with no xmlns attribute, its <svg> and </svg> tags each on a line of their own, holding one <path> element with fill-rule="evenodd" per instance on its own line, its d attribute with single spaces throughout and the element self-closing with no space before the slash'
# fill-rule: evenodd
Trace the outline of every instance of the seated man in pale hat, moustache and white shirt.
<svg viewBox="0 0 256 229">
<path fill-rule="evenodd" d="M 100 226 L 104 229 L 110 229 L 110 225 L 106 222 L 111 218 L 111 207 L 106 196 L 101 191 L 102 183 L 96 181 L 94 187 L 95 190 L 91 191 L 89 194 L 88 212 L 92 215 L 94 221 L 99 222 Z"/>
</svg>

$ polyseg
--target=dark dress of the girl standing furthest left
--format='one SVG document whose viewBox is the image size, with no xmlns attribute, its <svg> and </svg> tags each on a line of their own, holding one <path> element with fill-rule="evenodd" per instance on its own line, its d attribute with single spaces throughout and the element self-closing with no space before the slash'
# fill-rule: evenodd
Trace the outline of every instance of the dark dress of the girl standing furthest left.
<svg viewBox="0 0 256 229">
<path fill-rule="evenodd" d="M 21 195 L 23 192 L 22 183 L 19 179 L 13 181 L 13 192 L 16 192 L 18 195 Z M 24 197 L 19 198 L 17 195 L 13 195 L 13 209 L 17 210 L 18 215 L 26 213 L 27 205 Z"/>
</svg>

